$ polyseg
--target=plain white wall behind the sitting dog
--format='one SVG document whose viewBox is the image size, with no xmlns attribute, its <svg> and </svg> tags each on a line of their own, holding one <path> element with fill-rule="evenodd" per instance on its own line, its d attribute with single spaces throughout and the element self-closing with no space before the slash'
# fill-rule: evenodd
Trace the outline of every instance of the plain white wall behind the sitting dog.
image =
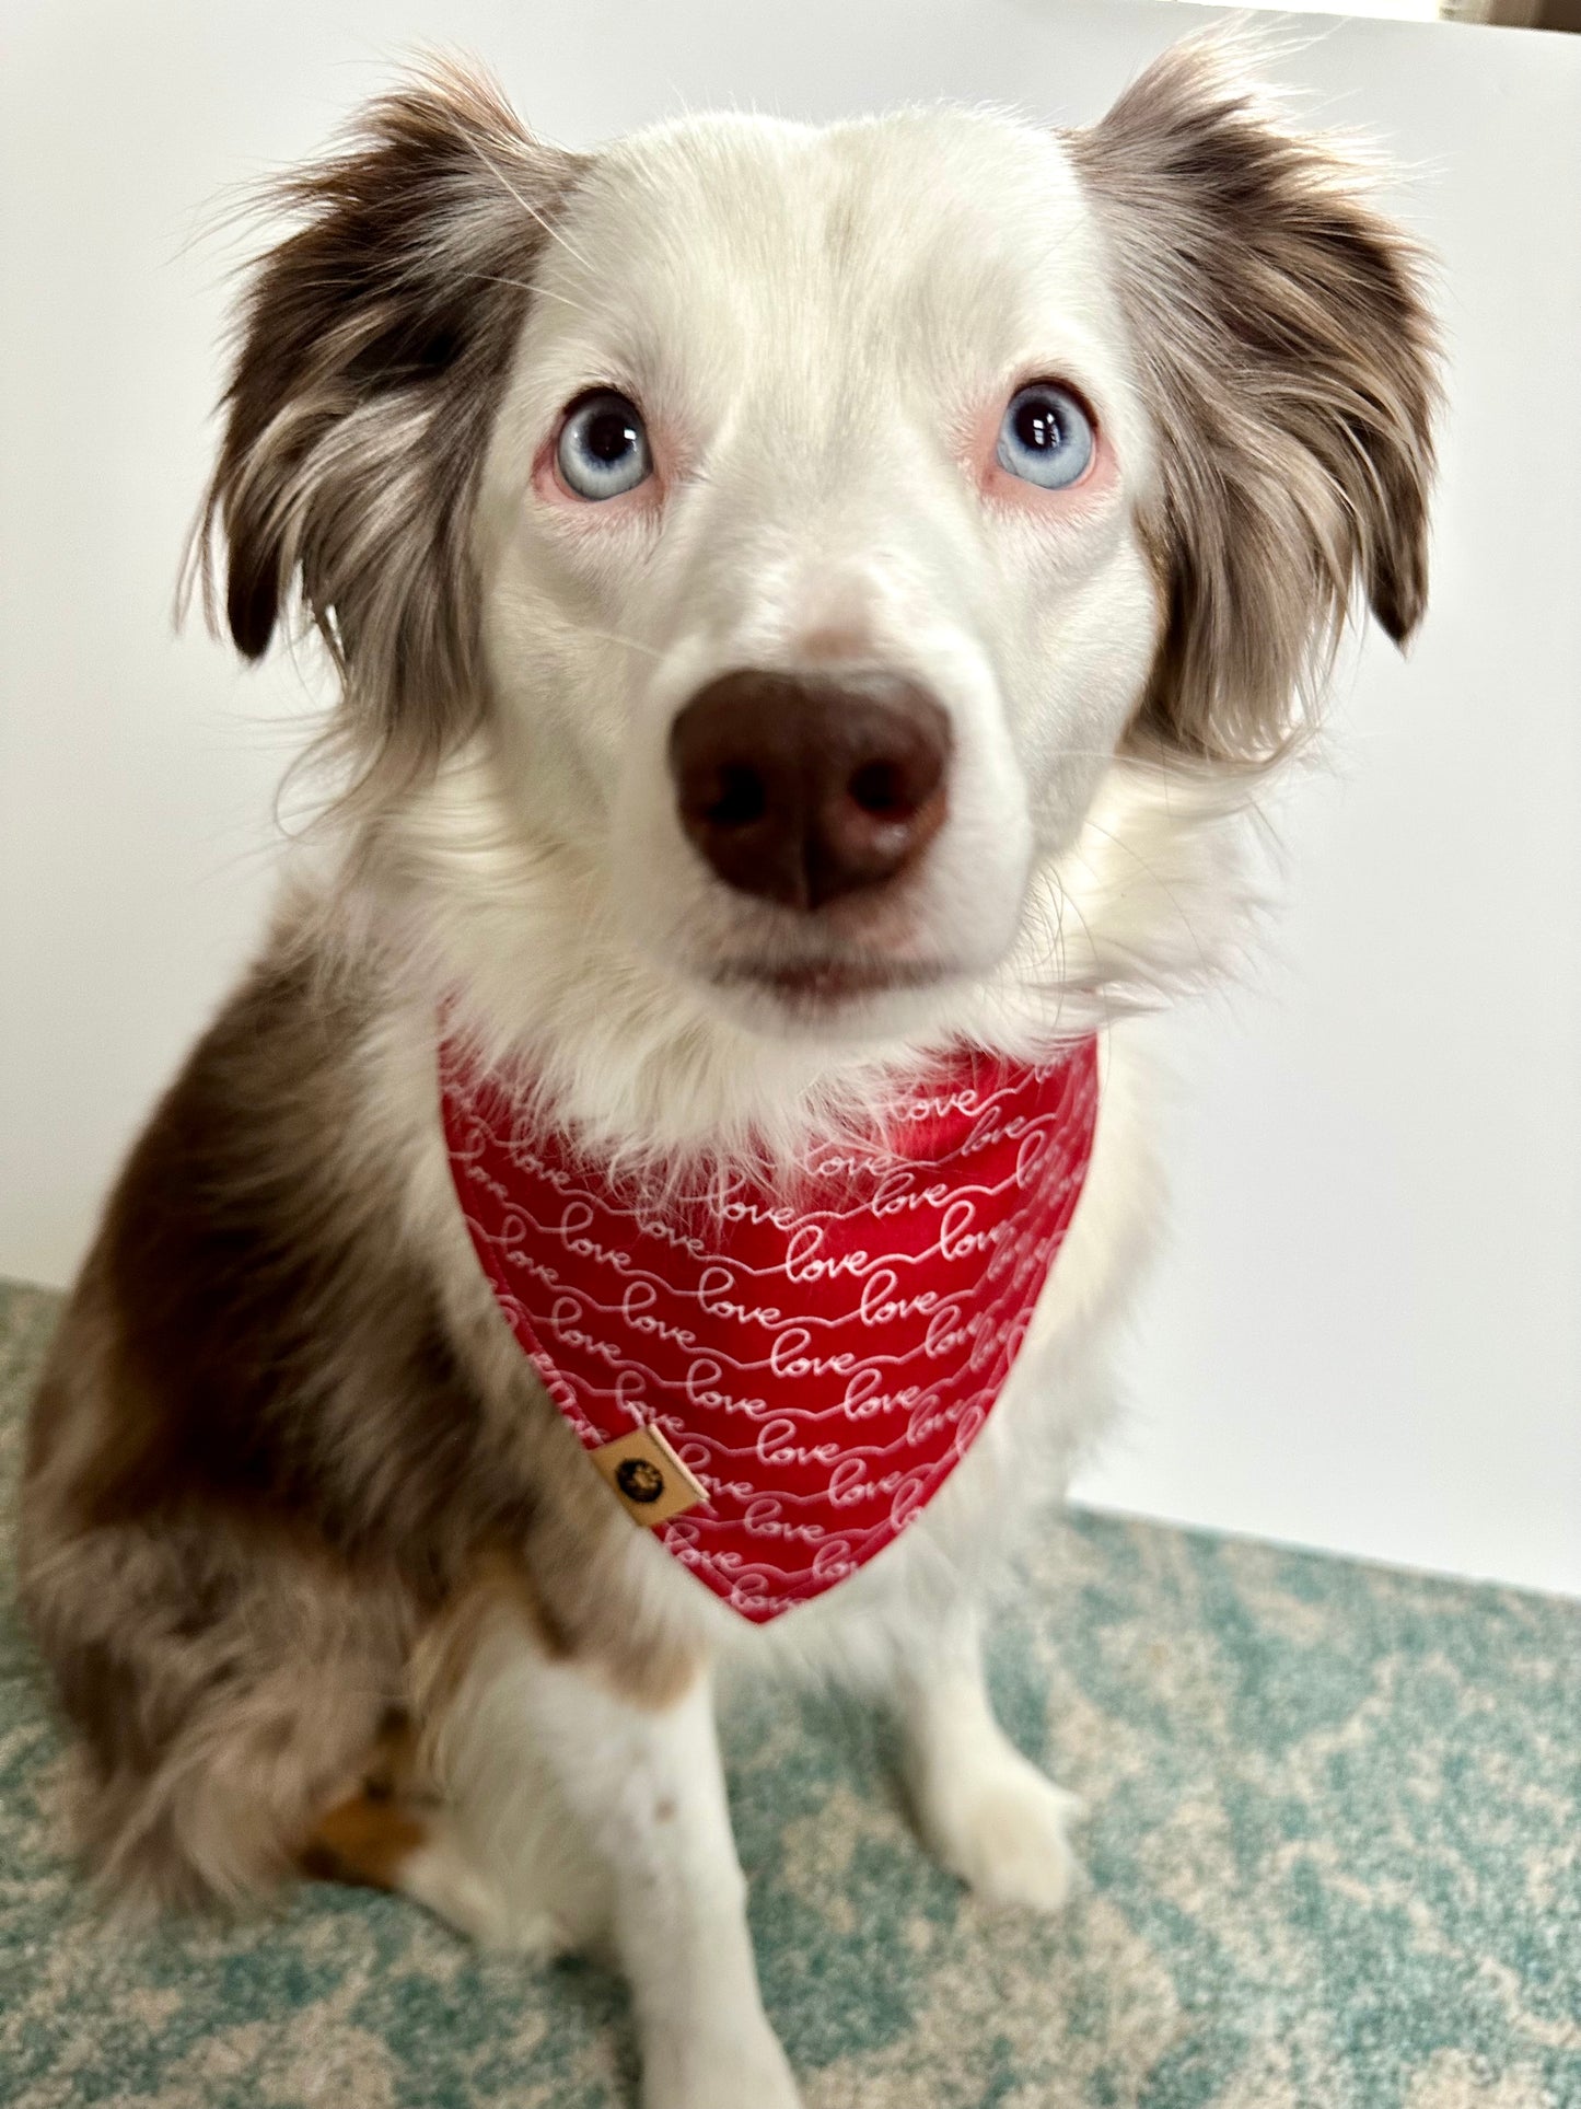
<svg viewBox="0 0 1581 2109">
<path fill-rule="evenodd" d="M 0 13 L 0 1272 L 63 1280 L 242 957 L 289 666 L 169 633 L 215 394 L 226 186 L 392 53 L 491 57 L 548 133 L 681 103 L 1094 114 L 1172 6 L 76 0 Z M 1286 801 L 1258 987 L 1174 1027 L 1178 1208 L 1086 1491 L 1581 1590 L 1581 42 L 1324 25 L 1277 72 L 1414 167 L 1448 280 L 1438 597 Z"/>
</svg>

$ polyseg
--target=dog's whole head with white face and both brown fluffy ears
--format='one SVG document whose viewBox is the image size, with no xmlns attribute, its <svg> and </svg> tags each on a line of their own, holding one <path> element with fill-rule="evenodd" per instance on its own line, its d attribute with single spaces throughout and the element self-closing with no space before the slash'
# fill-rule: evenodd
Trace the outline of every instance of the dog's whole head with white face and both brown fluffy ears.
<svg viewBox="0 0 1581 2109">
<path fill-rule="evenodd" d="M 588 156 L 443 70 L 291 202 L 211 491 L 232 633 L 299 591 L 369 780 L 483 755 L 689 1017 L 938 1027 L 1126 757 L 1256 770 L 1358 586 L 1421 616 L 1414 253 L 1202 40 L 1086 133 Z"/>
</svg>

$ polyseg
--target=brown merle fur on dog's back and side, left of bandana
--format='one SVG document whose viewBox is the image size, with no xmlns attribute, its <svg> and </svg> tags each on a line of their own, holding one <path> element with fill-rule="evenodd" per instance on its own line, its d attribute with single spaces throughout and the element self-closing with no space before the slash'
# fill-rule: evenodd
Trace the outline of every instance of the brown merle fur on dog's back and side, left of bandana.
<svg viewBox="0 0 1581 2109">
<path fill-rule="evenodd" d="M 392 1710 L 443 1742 L 502 1618 L 637 1704 L 696 1675 L 487 1293 L 479 1348 L 411 1227 L 369 1059 L 390 1002 L 276 932 L 133 1149 L 34 1402 L 23 1605 L 78 1837 L 133 1900 L 240 1898 L 327 1810 L 360 1837 Z"/>
</svg>

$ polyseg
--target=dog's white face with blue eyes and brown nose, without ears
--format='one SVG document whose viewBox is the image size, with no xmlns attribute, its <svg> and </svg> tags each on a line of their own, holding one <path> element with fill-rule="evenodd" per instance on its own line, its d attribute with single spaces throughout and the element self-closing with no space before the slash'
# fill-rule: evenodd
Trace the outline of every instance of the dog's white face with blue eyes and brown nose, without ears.
<svg viewBox="0 0 1581 2109">
<path fill-rule="evenodd" d="M 767 1029 L 991 972 L 1162 624 L 1147 415 L 1060 146 L 632 139 L 540 257 L 479 508 L 540 833 Z"/>
</svg>

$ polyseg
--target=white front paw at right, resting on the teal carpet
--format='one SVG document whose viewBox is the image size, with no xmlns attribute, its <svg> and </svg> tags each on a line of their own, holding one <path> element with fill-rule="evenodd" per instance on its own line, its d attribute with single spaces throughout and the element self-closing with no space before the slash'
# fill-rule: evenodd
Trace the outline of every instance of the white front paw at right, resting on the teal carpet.
<svg viewBox="0 0 1581 2109">
<path fill-rule="evenodd" d="M 1077 1860 L 1067 1833 L 1081 1803 L 1024 1757 L 1006 1753 L 930 1803 L 928 1843 L 984 1904 L 1060 1911 L 1069 1900 Z"/>
</svg>

